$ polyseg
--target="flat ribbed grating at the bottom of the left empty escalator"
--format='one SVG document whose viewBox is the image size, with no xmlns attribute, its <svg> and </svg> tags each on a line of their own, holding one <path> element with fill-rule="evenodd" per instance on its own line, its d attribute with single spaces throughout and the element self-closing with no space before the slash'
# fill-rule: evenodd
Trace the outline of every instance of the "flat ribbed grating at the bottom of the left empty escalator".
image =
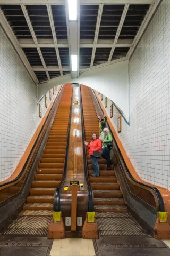
<svg viewBox="0 0 170 256">
<path fill-rule="evenodd" d="M 13 220 L 2 234 L 13 235 L 47 235 L 52 216 L 20 216 Z"/>
</svg>

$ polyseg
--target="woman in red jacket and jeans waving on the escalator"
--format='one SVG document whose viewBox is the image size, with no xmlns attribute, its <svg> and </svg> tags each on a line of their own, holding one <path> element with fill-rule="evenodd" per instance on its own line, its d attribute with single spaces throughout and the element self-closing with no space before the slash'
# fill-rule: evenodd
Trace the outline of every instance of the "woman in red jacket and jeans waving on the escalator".
<svg viewBox="0 0 170 256">
<path fill-rule="evenodd" d="M 98 164 L 98 158 L 94 157 L 94 151 L 100 152 L 101 149 L 101 141 L 97 138 L 97 135 L 94 133 L 92 134 L 92 141 L 87 142 L 84 141 L 84 144 L 87 148 L 89 148 L 89 155 L 91 157 L 91 163 L 94 167 L 94 174 L 92 174 L 92 177 L 99 177 L 99 164 Z M 89 144 L 89 145 L 88 145 Z"/>
</svg>

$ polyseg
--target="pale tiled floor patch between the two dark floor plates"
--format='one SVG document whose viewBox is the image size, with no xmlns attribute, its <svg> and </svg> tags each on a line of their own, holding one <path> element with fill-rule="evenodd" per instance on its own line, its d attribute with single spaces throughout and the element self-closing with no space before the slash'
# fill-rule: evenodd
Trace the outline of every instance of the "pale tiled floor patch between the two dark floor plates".
<svg viewBox="0 0 170 256">
<path fill-rule="evenodd" d="M 54 240 L 50 256 L 95 256 L 92 239 L 65 238 Z"/>
</svg>

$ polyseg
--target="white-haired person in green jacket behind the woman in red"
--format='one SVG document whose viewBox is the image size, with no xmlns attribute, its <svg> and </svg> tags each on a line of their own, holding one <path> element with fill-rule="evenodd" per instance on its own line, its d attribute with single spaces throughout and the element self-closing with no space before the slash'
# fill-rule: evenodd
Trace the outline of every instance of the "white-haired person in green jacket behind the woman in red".
<svg viewBox="0 0 170 256">
<path fill-rule="evenodd" d="M 104 150 L 101 154 L 101 157 L 103 157 L 107 161 L 107 170 L 111 170 L 111 164 L 112 164 L 111 157 L 110 157 L 111 148 L 108 148 L 107 143 L 112 142 L 113 138 L 112 138 L 112 135 L 109 132 L 108 128 L 104 128 L 103 131 L 104 131 L 104 134 L 105 134 L 104 140 L 102 140 L 101 137 L 100 137 L 101 142 L 104 145 Z"/>
</svg>

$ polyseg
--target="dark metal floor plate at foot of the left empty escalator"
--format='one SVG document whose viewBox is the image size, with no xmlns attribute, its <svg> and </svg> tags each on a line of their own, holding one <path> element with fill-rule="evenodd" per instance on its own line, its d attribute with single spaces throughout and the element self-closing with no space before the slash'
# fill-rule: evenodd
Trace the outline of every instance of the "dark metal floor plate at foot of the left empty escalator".
<svg viewBox="0 0 170 256">
<path fill-rule="evenodd" d="M 0 236 L 1 256 L 49 256 L 53 240 L 46 237 Z"/>
</svg>

